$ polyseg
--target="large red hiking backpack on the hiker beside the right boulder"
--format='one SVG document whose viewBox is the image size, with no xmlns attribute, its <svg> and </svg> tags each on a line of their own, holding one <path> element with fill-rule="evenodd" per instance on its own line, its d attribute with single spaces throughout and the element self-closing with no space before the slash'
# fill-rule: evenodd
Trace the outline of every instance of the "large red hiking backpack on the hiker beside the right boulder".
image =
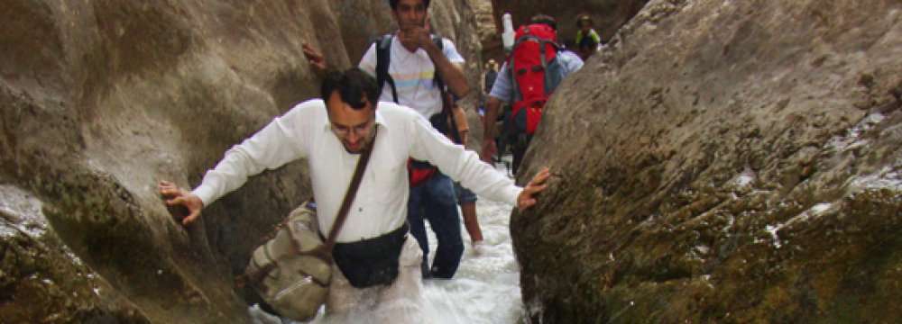
<svg viewBox="0 0 902 324">
<path fill-rule="evenodd" d="M 531 135 L 548 97 L 563 78 L 557 61 L 560 45 L 555 30 L 545 23 L 520 26 L 514 39 L 508 58 L 513 87 L 510 131 Z"/>
</svg>

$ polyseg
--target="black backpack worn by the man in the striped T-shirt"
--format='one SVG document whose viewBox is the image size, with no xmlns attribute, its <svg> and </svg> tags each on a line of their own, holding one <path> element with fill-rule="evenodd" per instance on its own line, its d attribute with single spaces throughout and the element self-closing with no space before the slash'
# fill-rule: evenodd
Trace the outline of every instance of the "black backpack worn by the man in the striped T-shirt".
<svg viewBox="0 0 902 324">
<path fill-rule="evenodd" d="M 437 35 L 431 35 L 432 41 L 438 45 L 439 49 L 444 49 L 442 38 Z M 398 103 L 398 87 L 395 86 L 394 79 L 389 75 L 389 62 L 391 62 L 391 39 L 394 36 L 386 34 L 375 40 L 376 43 L 376 84 L 379 85 L 379 94 L 382 95 L 382 89 L 387 82 L 391 86 L 391 99 Z M 443 134 L 448 135 L 451 140 L 456 143 L 463 143 L 460 139 L 460 133 L 457 131 L 457 122 L 454 120 L 454 114 L 451 112 L 451 102 L 448 100 L 445 82 L 438 75 L 433 78 L 433 83 L 438 87 L 442 98 L 442 112 L 429 117 L 432 127 Z"/>
</svg>

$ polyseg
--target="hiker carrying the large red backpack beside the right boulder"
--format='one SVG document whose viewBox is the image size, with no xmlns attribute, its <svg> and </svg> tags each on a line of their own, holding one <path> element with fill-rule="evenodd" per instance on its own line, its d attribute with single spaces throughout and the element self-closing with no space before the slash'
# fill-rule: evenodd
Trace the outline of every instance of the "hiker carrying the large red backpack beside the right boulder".
<svg viewBox="0 0 902 324">
<path fill-rule="evenodd" d="M 583 60 L 571 51 L 561 50 L 557 43 L 557 23 L 545 14 L 537 14 L 520 26 L 514 40 L 485 103 L 481 157 L 492 163 L 492 156 L 498 154 L 495 125 L 489 121 L 498 117 L 502 102 L 511 103 L 511 114 L 504 127 L 506 134 L 501 137 L 511 148 L 511 168 L 516 174 L 545 103 L 565 76 L 583 67 Z"/>
</svg>

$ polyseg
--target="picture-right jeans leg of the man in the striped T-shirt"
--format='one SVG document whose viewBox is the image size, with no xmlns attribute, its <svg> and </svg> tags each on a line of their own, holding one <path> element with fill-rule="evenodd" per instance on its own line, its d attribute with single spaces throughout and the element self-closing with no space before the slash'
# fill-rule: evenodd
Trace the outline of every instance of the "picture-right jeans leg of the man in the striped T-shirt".
<svg viewBox="0 0 902 324">
<path fill-rule="evenodd" d="M 464 255 L 464 242 L 460 237 L 460 215 L 457 213 L 454 184 L 447 175 L 437 173 L 428 184 L 424 195 L 426 218 L 436 233 L 438 246 L 432 261 L 431 275 L 450 279 Z"/>
</svg>

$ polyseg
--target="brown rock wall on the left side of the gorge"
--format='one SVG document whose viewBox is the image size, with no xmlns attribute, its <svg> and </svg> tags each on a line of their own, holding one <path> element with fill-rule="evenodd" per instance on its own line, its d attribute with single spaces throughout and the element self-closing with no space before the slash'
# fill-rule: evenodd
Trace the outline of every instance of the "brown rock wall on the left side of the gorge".
<svg viewBox="0 0 902 324">
<path fill-rule="evenodd" d="M 440 32 L 474 28 L 453 18 L 465 4 L 435 3 Z M 306 164 L 253 178 L 189 227 L 157 183 L 197 185 L 227 148 L 318 97 L 302 40 L 355 65 L 366 40 L 341 5 L 2 2 L 0 321 L 246 320 L 253 297 L 233 276 L 308 198 Z M 364 25 L 391 22 L 385 1 L 366 5 L 382 9 Z M 456 40 L 478 57 L 475 41 Z"/>
</svg>

